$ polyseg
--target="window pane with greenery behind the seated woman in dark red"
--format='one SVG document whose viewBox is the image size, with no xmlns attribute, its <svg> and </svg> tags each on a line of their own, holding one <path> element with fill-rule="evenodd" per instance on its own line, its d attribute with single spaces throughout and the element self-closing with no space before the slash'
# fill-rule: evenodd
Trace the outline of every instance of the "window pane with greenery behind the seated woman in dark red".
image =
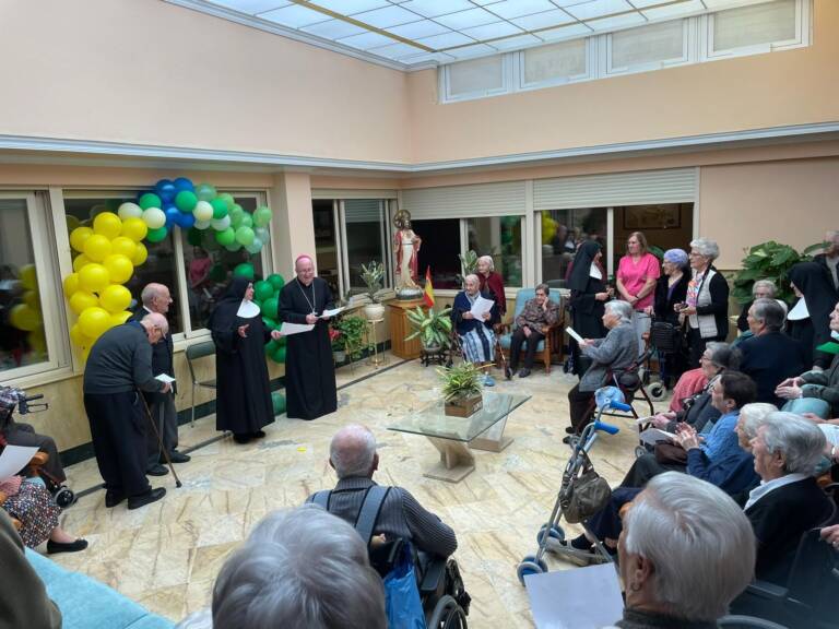
<svg viewBox="0 0 839 629">
<path fill-rule="evenodd" d="M 466 218 L 465 223 L 468 248 L 493 257 L 505 286 L 521 286 L 521 216 Z"/>
</svg>

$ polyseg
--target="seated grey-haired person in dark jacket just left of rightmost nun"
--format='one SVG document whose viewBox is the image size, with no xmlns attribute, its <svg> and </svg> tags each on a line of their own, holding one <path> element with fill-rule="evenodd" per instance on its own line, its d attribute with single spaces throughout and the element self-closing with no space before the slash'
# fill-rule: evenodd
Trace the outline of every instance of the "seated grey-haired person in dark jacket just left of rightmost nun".
<svg viewBox="0 0 839 629">
<path fill-rule="evenodd" d="M 748 309 L 748 329 L 754 334 L 737 346 L 743 355 L 740 370 L 757 384 L 757 401 L 783 406 L 776 388 L 802 373 L 806 353 L 795 339 L 781 332 L 785 313 L 775 299 L 755 299 Z"/>
</svg>

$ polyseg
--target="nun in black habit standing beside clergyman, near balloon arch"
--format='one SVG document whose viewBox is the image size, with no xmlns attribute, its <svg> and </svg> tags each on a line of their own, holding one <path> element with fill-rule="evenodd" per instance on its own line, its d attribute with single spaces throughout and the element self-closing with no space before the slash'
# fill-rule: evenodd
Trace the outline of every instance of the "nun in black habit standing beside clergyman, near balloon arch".
<svg viewBox="0 0 839 629">
<path fill-rule="evenodd" d="M 262 324 L 247 277 L 234 277 L 210 316 L 215 343 L 215 428 L 229 430 L 237 443 L 264 437 L 274 420 L 265 363 L 271 332 Z"/>
</svg>

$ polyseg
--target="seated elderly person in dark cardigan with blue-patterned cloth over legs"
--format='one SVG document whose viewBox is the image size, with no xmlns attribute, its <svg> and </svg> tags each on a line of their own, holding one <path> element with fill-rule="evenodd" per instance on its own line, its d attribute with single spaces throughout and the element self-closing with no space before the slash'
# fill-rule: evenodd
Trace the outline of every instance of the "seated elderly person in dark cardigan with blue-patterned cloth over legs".
<svg viewBox="0 0 839 629">
<path fill-rule="evenodd" d="M 495 357 L 496 342 L 493 325 L 500 320 L 498 304 L 489 293 L 481 292 L 481 281 L 477 275 L 466 275 L 464 282 L 465 290 L 458 293 L 454 297 L 454 304 L 451 306 L 451 320 L 460 337 L 463 357 L 470 363 L 484 367 L 484 384 L 492 387 L 495 384 L 495 380 L 488 371 Z M 492 309 L 484 312 L 481 320 L 475 319 L 471 312 L 472 306 L 478 297 L 493 301 Z"/>
</svg>

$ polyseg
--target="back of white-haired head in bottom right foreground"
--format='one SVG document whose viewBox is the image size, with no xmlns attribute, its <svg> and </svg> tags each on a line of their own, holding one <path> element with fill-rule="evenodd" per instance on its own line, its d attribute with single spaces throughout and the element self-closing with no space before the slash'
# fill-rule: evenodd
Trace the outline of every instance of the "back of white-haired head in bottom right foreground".
<svg viewBox="0 0 839 629">
<path fill-rule="evenodd" d="M 752 579 L 755 539 L 740 507 L 710 483 L 667 472 L 624 517 L 622 629 L 710 629 Z"/>
</svg>

